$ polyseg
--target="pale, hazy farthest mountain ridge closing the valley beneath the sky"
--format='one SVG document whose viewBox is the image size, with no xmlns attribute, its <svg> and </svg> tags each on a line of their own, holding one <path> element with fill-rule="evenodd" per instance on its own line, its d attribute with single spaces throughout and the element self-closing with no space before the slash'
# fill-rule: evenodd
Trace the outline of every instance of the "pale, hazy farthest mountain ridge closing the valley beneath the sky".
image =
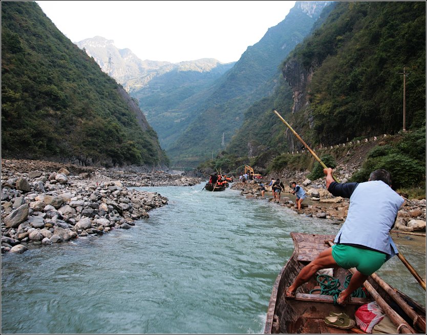
<svg viewBox="0 0 427 335">
<path fill-rule="evenodd" d="M 197 96 L 234 65 L 214 58 L 180 63 L 141 61 L 131 50 L 118 49 L 113 40 L 100 36 L 76 44 L 137 98 L 162 147 L 184 129 L 188 115 L 181 112 L 181 103 Z"/>
</svg>

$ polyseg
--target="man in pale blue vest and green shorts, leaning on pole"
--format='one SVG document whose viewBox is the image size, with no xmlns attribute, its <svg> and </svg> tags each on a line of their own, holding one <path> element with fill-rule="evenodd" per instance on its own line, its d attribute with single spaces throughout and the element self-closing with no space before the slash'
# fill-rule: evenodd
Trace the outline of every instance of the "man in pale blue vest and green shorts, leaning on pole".
<svg viewBox="0 0 427 335">
<path fill-rule="evenodd" d="M 296 289 L 320 269 L 355 267 L 348 287 L 337 299 L 338 305 L 344 306 L 351 293 L 398 252 L 389 231 L 404 200 L 392 190 L 392 178 L 387 170 L 373 171 L 365 183 L 337 183 L 331 168 L 323 171 L 328 191 L 350 199 L 347 219 L 335 237 L 335 245 L 305 266 L 285 294 L 294 297 Z"/>
</svg>

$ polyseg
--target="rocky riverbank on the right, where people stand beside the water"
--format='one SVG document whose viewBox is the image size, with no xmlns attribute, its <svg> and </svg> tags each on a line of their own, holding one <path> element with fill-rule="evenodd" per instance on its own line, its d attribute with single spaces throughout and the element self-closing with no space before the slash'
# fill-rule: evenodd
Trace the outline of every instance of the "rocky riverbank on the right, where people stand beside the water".
<svg viewBox="0 0 427 335">
<path fill-rule="evenodd" d="M 341 181 L 347 181 L 348 173 L 339 176 Z M 310 181 L 304 178 L 303 173 L 296 173 L 288 176 L 287 180 L 282 178 L 281 181 L 289 185 L 291 181 L 296 181 L 303 187 L 307 193 L 307 200 L 303 202 L 300 211 L 295 207 L 295 195 L 285 189 L 281 194 L 280 200 L 272 199 L 271 193 L 265 193 L 264 198 L 261 196 L 259 183 L 264 182 L 268 185 L 271 179 L 263 181 L 248 181 L 246 183 L 234 183 L 231 188 L 241 191 L 248 199 L 266 199 L 270 202 L 277 203 L 280 206 L 288 207 L 297 213 L 308 217 L 330 220 L 332 224 L 341 224 L 347 217 L 349 208 L 349 199 L 335 197 L 326 190 L 325 179 Z M 410 200 L 404 198 L 405 202 L 397 214 L 397 220 L 394 229 L 402 232 L 425 232 L 426 229 L 426 200 Z"/>
</svg>

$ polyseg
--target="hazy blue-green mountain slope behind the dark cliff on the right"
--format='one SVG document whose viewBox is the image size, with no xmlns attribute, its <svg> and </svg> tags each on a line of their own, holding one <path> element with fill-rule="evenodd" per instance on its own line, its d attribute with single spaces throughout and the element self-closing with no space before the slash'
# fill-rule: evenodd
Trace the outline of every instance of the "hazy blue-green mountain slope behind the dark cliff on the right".
<svg viewBox="0 0 427 335">
<path fill-rule="evenodd" d="M 194 166 L 221 149 L 242 125 L 244 111 L 273 92 L 279 65 L 303 41 L 317 17 L 330 2 L 296 2 L 284 21 L 270 28 L 260 42 L 248 47 L 240 60 L 197 98 L 177 110 L 185 129 L 165 147 L 172 164 Z M 272 80 L 275 78 L 276 80 Z"/>
</svg>

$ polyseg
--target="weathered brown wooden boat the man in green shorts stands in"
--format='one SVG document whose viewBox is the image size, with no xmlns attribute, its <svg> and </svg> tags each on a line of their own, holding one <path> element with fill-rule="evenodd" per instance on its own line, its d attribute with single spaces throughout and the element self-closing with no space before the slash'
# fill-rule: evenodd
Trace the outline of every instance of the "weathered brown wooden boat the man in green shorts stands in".
<svg viewBox="0 0 427 335">
<path fill-rule="evenodd" d="M 330 312 L 345 312 L 353 320 L 355 311 L 364 304 L 376 301 L 386 312 L 396 328 L 402 333 L 425 333 L 425 308 L 407 295 L 392 288 L 373 273 L 364 283 L 368 291 L 367 298 L 351 298 L 346 307 L 333 304 L 332 295 L 310 294 L 318 286 L 316 276 L 297 289 L 295 298 L 285 298 L 286 288 L 293 282 L 300 270 L 317 255 L 327 249 L 333 241 L 333 235 L 313 235 L 291 233 L 294 252 L 280 271 L 273 285 L 268 306 L 264 333 L 365 333 L 357 326 L 343 330 L 329 327 L 324 319 Z M 341 283 L 340 289 L 350 270 L 340 267 L 333 269 L 333 277 Z"/>
</svg>

